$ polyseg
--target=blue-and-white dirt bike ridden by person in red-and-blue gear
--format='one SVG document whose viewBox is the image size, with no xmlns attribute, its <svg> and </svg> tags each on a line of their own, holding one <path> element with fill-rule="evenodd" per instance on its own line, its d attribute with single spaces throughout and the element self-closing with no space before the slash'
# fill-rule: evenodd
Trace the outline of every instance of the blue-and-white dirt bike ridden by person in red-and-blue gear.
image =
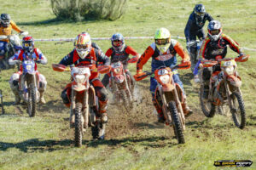
<svg viewBox="0 0 256 170">
<path fill-rule="evenodd" d="M 27 59 L 22 61 L 14 61 L 21 65 L 22 74 L 20 75 L 19 82 L 15 82 L 19 84 L 19 95 L 20 99 L 24 101 L 26 104 L 26 110 L 30 117 L 36 115 L 37 103 L 39 102 L 39 72 L 35 70 L 35 64 L 40 62 L 38 59 L 35 61 L 34 59 Z M 21 63 L 21 64 L 20 64 Z"/>
</svg>

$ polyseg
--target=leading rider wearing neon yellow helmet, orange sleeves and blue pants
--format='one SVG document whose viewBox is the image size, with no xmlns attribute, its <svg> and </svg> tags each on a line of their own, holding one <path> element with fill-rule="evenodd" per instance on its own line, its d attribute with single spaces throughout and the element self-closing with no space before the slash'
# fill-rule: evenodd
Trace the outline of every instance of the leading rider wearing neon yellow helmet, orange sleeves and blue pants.
<svg viewBox="0 0 256 170">
<path fill-rule="evenodd" d="M 180 55 L 183 59 L 183 64 L 189 62 L 189 54 L 185 53 L 183 47 L 174 39 L 171 39 L 171 34 L 166 28 L 158 29 L 154 34 L 154 42 L 148 46 L 145 52 L 142 54 L 141 58 L 137 61 L 137 75 L 142 74 L 143 65 L 145 65 L 148 59 L 152 58 L 151 70 L 154 72 L 160 66 L 167 66 L 173 69 L 173 80 L 176 82 L 183 90 L 183 111 L 184 115 L 187 117 L 193 113 L 189 109 L 186 102 L 186 95 L 183 89 L 183 82 L 178 77 L 176 54 Z M 157 105 L 154 92 L 157 86 L 157 81 L 154 77 L 150 77 L 150 92 L 152 94 L 152 101 L 156 111 L 158 112 L 158 121 L 165 122 L 165 117 L 163 116 L 163 111 L 159 105 Z"/>
</svg>

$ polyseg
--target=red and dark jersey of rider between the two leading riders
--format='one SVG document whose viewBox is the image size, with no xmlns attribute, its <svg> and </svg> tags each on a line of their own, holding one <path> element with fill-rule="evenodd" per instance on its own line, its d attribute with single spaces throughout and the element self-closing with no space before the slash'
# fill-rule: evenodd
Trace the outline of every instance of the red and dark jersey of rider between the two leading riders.
<svg viewBox="0 0 256 170">
<path fill-rule="evenodd" d="M 121 52 L 116 52 L 113 48 L 108 48 L 106 55 L 111 57 L 111 63 L 121 61 L 126 68 L 128 65 L 129 55 L 137 55 L 137 52 L 131 46 L 125 46 Z"/>
</svg>

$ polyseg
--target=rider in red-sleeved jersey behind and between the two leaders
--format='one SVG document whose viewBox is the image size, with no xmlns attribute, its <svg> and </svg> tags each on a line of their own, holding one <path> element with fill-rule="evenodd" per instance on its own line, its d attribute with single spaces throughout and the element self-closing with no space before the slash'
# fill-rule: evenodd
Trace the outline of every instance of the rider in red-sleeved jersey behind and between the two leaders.
<svg viewBox="0 0 256 170">
<path fill-rule="evenodd" d="M 138 60 L 140 55 L 131 48 L 131 46 L 125 45 L 125 38 L 120 33 L 115 33 L 111 37 L 112 48 L 108 48 L 106 55 L 110 57 L 111 63 L 121 61 L 124 65 L 125 72 L 131 77 L 131 94 L 133 94 L 135 79 L 132 77 L 131 72 L 128 71 L 127 65 L 129 60 L 129 55 L 133 55 L 133 59 Z M 102 78 L 102 84 L 107 87 L 109 83 L 110 74 L 105 74 Z"/>
</svg>

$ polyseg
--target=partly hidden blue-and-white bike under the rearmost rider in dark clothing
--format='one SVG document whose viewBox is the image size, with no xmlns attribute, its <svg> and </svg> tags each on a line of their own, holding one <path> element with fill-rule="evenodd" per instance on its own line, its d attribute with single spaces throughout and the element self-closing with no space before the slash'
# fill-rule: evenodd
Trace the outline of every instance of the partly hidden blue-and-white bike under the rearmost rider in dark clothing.
<svg viewBox="0 0 256 170">
<path fill-rule="evenodd" d="M 202 40 L 193 40 L 187 42 L 187 49 L 191 60 L 191 71 L 194 71 L 195 65 L 198 62 L 202 42 Z"/>
</svg>

